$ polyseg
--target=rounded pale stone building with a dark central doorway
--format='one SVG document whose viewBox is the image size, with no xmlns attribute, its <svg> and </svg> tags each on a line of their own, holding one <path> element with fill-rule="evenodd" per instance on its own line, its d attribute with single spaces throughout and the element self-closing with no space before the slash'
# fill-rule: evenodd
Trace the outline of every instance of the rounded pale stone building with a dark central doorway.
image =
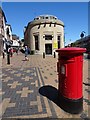
<svg viewBox="0 0 90 120">
<path fill-rule="evenodd" d="M 53 54 L 64 47 L 64 23 L 53 15 L 40 15 L 25 27 L 24 40 L 35 54 Z"/>
</svg>

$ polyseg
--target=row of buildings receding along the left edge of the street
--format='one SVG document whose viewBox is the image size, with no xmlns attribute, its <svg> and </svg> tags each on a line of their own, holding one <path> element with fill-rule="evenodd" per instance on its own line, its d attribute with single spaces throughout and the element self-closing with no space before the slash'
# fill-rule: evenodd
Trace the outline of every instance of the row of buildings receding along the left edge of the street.
<svg viewBox="0 0 90 120">
<path fill-rule="evenodd" d="M 0 7 L 0 56 L 2 51 L 7 52 L 10 46 L 19 47 L 20 40 L 17 35 L 12 34 L 12 27 L 7 24 L 5 14 Z"/>
</svg>

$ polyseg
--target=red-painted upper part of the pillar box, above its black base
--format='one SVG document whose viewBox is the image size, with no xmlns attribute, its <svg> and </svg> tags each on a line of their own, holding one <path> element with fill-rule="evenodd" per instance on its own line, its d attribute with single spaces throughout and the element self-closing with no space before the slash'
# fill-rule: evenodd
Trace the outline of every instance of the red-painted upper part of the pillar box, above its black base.
<svg viewBox="0 0 90 120">
<path fill-rule="evenodd" d="M 59 92 L 69 99 L 79 99 L 82 95 L 83 52 L 85 48 L 61 48 L 58 52 Z"/>
</svg>

